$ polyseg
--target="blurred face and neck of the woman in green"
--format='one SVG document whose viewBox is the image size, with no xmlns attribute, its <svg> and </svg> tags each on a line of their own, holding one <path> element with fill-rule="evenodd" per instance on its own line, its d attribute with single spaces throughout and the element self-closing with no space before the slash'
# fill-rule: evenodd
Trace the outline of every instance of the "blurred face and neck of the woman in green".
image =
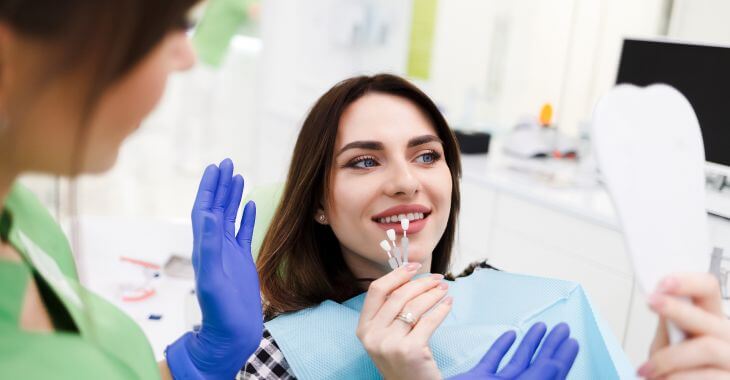
<svg viewBox="0 0 730 380">
<path fill-rule="evenodd" d="M 73 160 L 79 154 L 79 128 L 82 128 L 83 83 L 88 82 L 83 68 L 54 77 L 32 92 L 30 103 L 24 94 L 29 83 L 44 68 L 48 44 L 8 37 L 3 33 L 7 59 L 3 83 L 2 109 L 7 118 L 8 141 L 12 141 L 13 162 L 19 171 L 53 174 L 73 173 Z M 182 30 L 169 32 L 145 57 L 104 90 L 91 110 L 82 131 L 85 138 L 81 172 L 96 173 L 109 169 L 116 161 L 122 141 L 134 132 L 153 110 L 163 94 L 170 73 L 190 68 L 195 55 Z M 26 91 L 27 92 L 27 91 Z M 21 107 L 13 102 L 30 104 Z"/>
</svg>

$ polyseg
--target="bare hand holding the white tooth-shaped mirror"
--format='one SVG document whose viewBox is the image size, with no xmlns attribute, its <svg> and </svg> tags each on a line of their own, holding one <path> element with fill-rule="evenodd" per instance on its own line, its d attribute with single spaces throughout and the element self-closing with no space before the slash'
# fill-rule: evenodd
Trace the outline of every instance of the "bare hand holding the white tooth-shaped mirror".
<svg viewBox="0 0 730 380">
<path fill-rule="evenodd" d="M 678 297 L 691 300 L 686 302 Z M 705 273 L 665 278 L 649 297 L 659 315 L 659 326 L 649 360 L 639 376 L 666 379 L 730 379 L 730 321 L 723 315 L 720 286 Z M 687 339 L 671 345 L 667 333 L 671 321 Z"/>
</svg>

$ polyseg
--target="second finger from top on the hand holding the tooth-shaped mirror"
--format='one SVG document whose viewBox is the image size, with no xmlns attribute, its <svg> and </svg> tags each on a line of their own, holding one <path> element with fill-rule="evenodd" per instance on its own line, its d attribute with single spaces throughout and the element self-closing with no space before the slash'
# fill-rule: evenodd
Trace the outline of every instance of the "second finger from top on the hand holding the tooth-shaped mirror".
<svg viewBox="0 0 730 380">
<path fill-rule="evenodd" d="M 713 335 L 730 341 L 730 326 L 725 318 L 707 312 L 673 296 L 653 294 L 649 305 L 657 314 L 693 335 Z"/>
</svg>

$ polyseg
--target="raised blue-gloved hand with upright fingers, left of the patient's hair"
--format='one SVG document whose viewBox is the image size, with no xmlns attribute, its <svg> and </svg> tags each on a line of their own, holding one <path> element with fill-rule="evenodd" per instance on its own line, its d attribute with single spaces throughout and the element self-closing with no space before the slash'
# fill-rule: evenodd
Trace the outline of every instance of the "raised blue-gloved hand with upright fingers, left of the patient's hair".
<svg viewBox="0 0 730 380">
<path fill-rule="evenodd" d="M 246 204 L 236 234 L 243 177 L 233 163 L 210 165 L 192 211 L 193 268 L 203 323 L 167 347 L 175 379 L 233 379 L 258 347 L 263 314 L 251 236 L 256 205 Z"/>
</svg>

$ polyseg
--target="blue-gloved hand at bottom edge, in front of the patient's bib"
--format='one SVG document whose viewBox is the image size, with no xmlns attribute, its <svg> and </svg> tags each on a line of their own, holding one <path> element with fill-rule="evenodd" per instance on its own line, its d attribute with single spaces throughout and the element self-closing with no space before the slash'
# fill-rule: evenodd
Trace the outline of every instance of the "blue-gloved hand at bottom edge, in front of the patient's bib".
<svg viewBox="0 0 730 380">
<path fill-rule="evenodd" d="M 540 352 L 532 357 L 540 346 L 547 328 L 538 322 L 530 327 L 509 363 L 497 372 L 499 363 L 516 339 L 514 331 L 502 334 L 489 348 L 482 359 L 470 371 L 451 377 L 450 380 L 476 379 L 519 379 L 558 380 L 565 379 L 578 355 L 578 342 L 569 338 L 570 328 L 565 323 L 556 325 L 545 338 Z M 532 363 L 531 363 L 532 361 Z"/>
</svg>

